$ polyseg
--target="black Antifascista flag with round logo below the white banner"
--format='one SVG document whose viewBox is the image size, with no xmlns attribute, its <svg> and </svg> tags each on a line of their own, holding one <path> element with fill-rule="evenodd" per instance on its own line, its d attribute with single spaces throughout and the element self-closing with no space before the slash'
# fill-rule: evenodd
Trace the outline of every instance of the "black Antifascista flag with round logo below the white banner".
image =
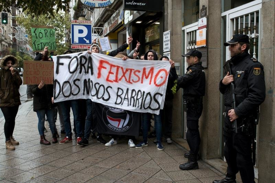
<svg viewBox="0 0 275 183">
<path fill-rule="evenodd" d="M 94 102 L 94 119 L 101 134 L 138 136 L 140 113 Z"/>
</svg>

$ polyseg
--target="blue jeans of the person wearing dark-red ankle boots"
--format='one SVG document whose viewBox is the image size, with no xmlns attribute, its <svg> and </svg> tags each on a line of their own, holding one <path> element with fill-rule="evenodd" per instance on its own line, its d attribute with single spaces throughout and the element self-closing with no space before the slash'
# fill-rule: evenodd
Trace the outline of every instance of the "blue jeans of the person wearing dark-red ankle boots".
<svg viewBox="0 0 275 183">
<path fill-rule="evenodd" d="M 48 118 L 50 124 L 50 129 L 52 134 L 55 133 L 55 123 L 54 123 L 54 108 L 51 109 L 41 109 L 36 111 L 38 117 L 38 131 L 39 135 L 44 135 L 44 124 L 45 124 L 45 114 Z"/>
</svg>

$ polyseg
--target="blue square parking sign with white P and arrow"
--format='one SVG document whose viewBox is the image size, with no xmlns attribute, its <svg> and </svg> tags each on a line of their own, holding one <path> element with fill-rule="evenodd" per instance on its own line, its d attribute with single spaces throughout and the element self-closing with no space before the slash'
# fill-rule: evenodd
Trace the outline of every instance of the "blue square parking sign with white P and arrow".
<svg viewBox="0 0 275 183">
<path fill-rule="evenodd" d="M 71 24 L 71 44 L 92 44 L 92 25 Z"/>
</svg>

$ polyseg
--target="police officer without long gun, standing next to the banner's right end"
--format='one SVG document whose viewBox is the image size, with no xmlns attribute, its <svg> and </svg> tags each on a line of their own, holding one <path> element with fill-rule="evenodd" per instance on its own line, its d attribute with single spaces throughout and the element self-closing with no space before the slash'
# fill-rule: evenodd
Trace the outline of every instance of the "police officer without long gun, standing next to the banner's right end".
<svg viewBox="0 0 275 183">
<path fill-rule="evenodd" d="M 190 148 L 185 153 L 188 162 L 179 166 L 182 170 L 198 169 L 197 156 L 200 148 L 199 118 L 203 110 L 203 96 L 205 93 L 205 74 L 202 54 L 198 50 L 190 50 L 182 57 L 187 57 L 187 72 L 179 77 L 177 87 L 183 88 L 184 108 L 186 112 L 187 133 L 186 139 Z"/>
</svg>

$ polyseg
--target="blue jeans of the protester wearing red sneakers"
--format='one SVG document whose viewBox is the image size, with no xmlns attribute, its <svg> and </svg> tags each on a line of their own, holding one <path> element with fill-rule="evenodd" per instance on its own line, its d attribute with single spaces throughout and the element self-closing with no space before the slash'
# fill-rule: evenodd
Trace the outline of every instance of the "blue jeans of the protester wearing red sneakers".
<svg viewBox="0 0 275 183">
<path fill-rule="evenodd" d="M 60 107 L 63 115 L 66 136 L 71 138 L 71 135 L 72 135 L 71 121 L 70 121 L 70 111 L 72 110 L 74 115 L 74 120 L 75 120 L 76 137 L 81 137 L 82 128 L 81 128 L 78 100 L 69 100 L 69 101 L 60 102 Z"/>
</svg>

